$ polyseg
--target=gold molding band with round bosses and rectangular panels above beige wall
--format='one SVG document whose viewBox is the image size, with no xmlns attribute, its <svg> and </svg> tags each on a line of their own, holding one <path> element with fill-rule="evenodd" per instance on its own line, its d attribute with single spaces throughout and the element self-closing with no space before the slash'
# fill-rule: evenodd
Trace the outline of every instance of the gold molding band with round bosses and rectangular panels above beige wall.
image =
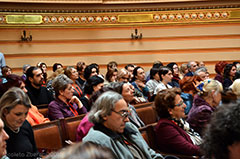
<svg viewBox="0 0 240 159">
<path fill-rule="evenodd" d="M 111 13 L 0 13 L 0 27 L 104 27 L 240 22 L 240 8 Z"/>
</svg>

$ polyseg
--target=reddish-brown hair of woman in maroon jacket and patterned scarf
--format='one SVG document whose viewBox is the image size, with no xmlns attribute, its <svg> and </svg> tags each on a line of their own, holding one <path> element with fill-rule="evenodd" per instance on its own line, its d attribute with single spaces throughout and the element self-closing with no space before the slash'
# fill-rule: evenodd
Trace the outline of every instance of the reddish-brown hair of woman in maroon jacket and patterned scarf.
<svg viewBox="0 0 240 159">
<path fill-rule="evenodd" d="M 158 92 L 155 97 L 155 109 L 160 118 L 170 118 L 169 108 L 175 107 L 175 97 L 181 95 L 179 88 L 170 88 Z"/>
</svg>

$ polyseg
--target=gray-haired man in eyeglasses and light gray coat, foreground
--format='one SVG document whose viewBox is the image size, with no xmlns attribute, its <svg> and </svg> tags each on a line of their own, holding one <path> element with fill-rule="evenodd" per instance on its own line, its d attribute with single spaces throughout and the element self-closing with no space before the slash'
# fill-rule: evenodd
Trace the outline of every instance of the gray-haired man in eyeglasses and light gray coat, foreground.
<svg viewBox="0 0 240 159">
<path fill-rule="evenodd" d="M 83 142 L 93 142 L 112 150 L 116 159 L 163 159 L 153 151 L 132 123 L 123 97 L 112 91 L 103 93 L 89 113 L 94 126 Z"/>
</svg>

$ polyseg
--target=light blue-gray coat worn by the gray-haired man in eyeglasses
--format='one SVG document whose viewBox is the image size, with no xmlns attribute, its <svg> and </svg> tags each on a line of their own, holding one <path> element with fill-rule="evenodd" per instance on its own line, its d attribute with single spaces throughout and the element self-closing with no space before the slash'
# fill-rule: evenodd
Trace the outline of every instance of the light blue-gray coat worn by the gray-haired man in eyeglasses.
<svg viewBox="0 0 240 159">
<path fill-rule="evenodd" d="M 102 124 L 97 124 L 90 129 L 87 136 L 83 138 L 83 142 L 90 141 L 108 147 L 112 150 L 116 159 L 134 159 L 128 147 L 122 140 L 123 135 L 125 137 L 127 136 L 133 144 L 142 150 L 145 158 L 163 159 L 161 154 L 156 153 L 147 145 L 137 127 L 131 122 L 126 123 L 123 134 L 114 133 Z"/>
</svg>

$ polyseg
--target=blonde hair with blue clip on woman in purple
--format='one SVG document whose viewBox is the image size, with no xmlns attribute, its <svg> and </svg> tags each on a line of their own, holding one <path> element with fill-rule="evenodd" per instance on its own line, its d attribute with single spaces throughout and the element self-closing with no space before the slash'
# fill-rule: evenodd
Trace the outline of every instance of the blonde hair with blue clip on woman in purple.
<svg viewBox="0 0 240 159">
<path fill-rule="evenodd" d="M 219 81 L 213 80 L 213 79 L 206 79 L 206 80 L 202 81 L 197 86 L 197 89 L 201 96 L 208 96 L 209 93 L 211 93 L 212 91 L 215 91 L 215 92 L 223 91 L 222 84 Z"/>
</svg>

